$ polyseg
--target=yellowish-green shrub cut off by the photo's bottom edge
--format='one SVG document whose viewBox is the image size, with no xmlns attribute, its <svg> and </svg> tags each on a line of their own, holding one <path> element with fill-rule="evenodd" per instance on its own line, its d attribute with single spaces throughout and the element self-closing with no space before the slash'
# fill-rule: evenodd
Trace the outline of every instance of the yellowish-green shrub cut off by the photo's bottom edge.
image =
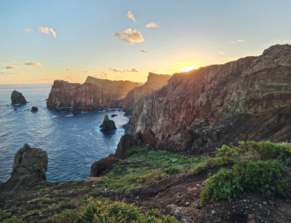
<svg viewBox="0 0 291 223">
<path fill-rule="evenodd" d="M 138 207 L 124 202 L 98 201 L 92 197 L 75 223 L 178 223 L 174 217 L 163 216 L 158 210 L 142 214 Z"/>
</svg>

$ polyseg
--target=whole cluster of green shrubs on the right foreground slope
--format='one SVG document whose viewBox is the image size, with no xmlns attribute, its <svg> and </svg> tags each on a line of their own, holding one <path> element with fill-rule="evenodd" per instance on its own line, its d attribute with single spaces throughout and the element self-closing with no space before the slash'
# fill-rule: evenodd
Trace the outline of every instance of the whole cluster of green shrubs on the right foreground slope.
<svg viewBox="0 0 291 223">
<path fill-rule="evenodd" d="M 240 196 L 244 191 L 258 192 L 262 196 L 275 194 L 289 196 L 291 191 L 291 144 L 270 141 L 239 142 L 238 146 L 223 145 L 215 158 L 194 167 L 192 174 L 224 165 L 210 176 L 200 194 L 201 203 Z"/>
</svg>

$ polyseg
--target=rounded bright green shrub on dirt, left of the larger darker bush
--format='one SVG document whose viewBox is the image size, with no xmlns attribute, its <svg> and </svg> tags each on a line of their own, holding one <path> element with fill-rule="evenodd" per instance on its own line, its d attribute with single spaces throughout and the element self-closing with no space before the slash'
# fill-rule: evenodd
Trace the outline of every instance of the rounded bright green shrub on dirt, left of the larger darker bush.
<svg viewBox="0 0 291 223">
<path fill-rule="evenodd" d="M 241 178 L 233 171 L 221 168 L 215 175 L 210 176 L 206 187 L 200 193 L 202 204 L 209 201 L 227 199 L 231 202 L 232 197 L 238 197 L 243 191 Z"/>
</svg>

